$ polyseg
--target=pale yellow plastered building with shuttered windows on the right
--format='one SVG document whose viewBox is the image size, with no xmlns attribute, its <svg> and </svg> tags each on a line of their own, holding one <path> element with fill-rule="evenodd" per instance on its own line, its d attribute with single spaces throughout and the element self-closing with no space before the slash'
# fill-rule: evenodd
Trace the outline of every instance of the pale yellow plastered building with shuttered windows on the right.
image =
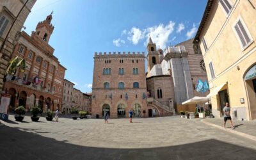
<svg viewBox="0 0 256 160">
<path fill-rule="evenodd" d="M 232 117 L 256 119 L 255 8 L 255 0 L 209 0 L 196 33 L 217 117 L 229 102 Z"/>
</svg>

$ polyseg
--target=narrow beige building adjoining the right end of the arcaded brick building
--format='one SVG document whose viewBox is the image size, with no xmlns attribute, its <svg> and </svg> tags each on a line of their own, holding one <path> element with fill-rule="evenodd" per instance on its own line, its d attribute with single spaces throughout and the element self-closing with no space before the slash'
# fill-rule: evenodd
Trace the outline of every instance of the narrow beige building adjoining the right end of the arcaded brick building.
<svg viewBox="0 0 256 160">
<path fill-rule="evenodd" d="M 62 100 L 62 113 L 67 114 L 71 112 L 71 108 L 74 105 L 73 100 L 73 88 L 74 83 L 64 79 L 64 88 L 63 88 L 63 100 Z"/>
</svg>

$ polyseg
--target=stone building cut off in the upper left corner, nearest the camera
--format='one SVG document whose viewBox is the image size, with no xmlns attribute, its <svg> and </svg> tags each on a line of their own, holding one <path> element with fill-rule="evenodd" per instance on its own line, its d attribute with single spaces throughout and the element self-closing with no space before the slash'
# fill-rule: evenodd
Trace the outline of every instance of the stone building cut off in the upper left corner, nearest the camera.
<svg viewBox="0 0 256 160">
<path fill-rule="evenodd" d="M 26 0 L 1 0 L 0 2 L 0 90 L 3 88 L 3 77 L 12 57 L 14 46 L 19 39 L 20 29 L 23 27 L 35 2 L 36 0 L 29 0 L 28 3 L 26 3 Z M 26 6 L 24 6 L 25 3 Z M 8 34 L 9 30 L 10 33 Z"/>
</svg>

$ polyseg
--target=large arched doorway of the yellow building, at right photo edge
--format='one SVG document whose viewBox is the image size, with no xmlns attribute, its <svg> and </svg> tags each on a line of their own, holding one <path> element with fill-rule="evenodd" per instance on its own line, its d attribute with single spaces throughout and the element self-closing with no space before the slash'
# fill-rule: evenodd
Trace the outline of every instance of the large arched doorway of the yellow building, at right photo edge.
<svg viewBox="0 0 256 160">
<path fill-rule="evenodd" d="M 246 92 L 248 94 L 248 106 L 250 119 L 256 119 L 256 65 L 250 67 L 244 74 L 244 83 L 246 85 Z"/>
</svg>

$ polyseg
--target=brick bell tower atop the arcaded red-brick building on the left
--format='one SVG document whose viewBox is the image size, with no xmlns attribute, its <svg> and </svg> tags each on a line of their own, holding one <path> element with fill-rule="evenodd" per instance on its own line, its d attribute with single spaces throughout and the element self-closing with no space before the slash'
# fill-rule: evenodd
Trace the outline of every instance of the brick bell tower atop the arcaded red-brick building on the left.
<svg viewBox="0 0 256 160">
<path fill-rule="evenodd" d="M 39 22 L 36 26 L 35 35 L 44 40 L 47 44 L 50 40 L 50 37 L 52 35 L 52 31 L 54 29 L 54 26 L 51 24 L 52 20 L 52 13 L 51 15 L 48 15 L 46 19 L 42 22 Z"/>
</svg>

